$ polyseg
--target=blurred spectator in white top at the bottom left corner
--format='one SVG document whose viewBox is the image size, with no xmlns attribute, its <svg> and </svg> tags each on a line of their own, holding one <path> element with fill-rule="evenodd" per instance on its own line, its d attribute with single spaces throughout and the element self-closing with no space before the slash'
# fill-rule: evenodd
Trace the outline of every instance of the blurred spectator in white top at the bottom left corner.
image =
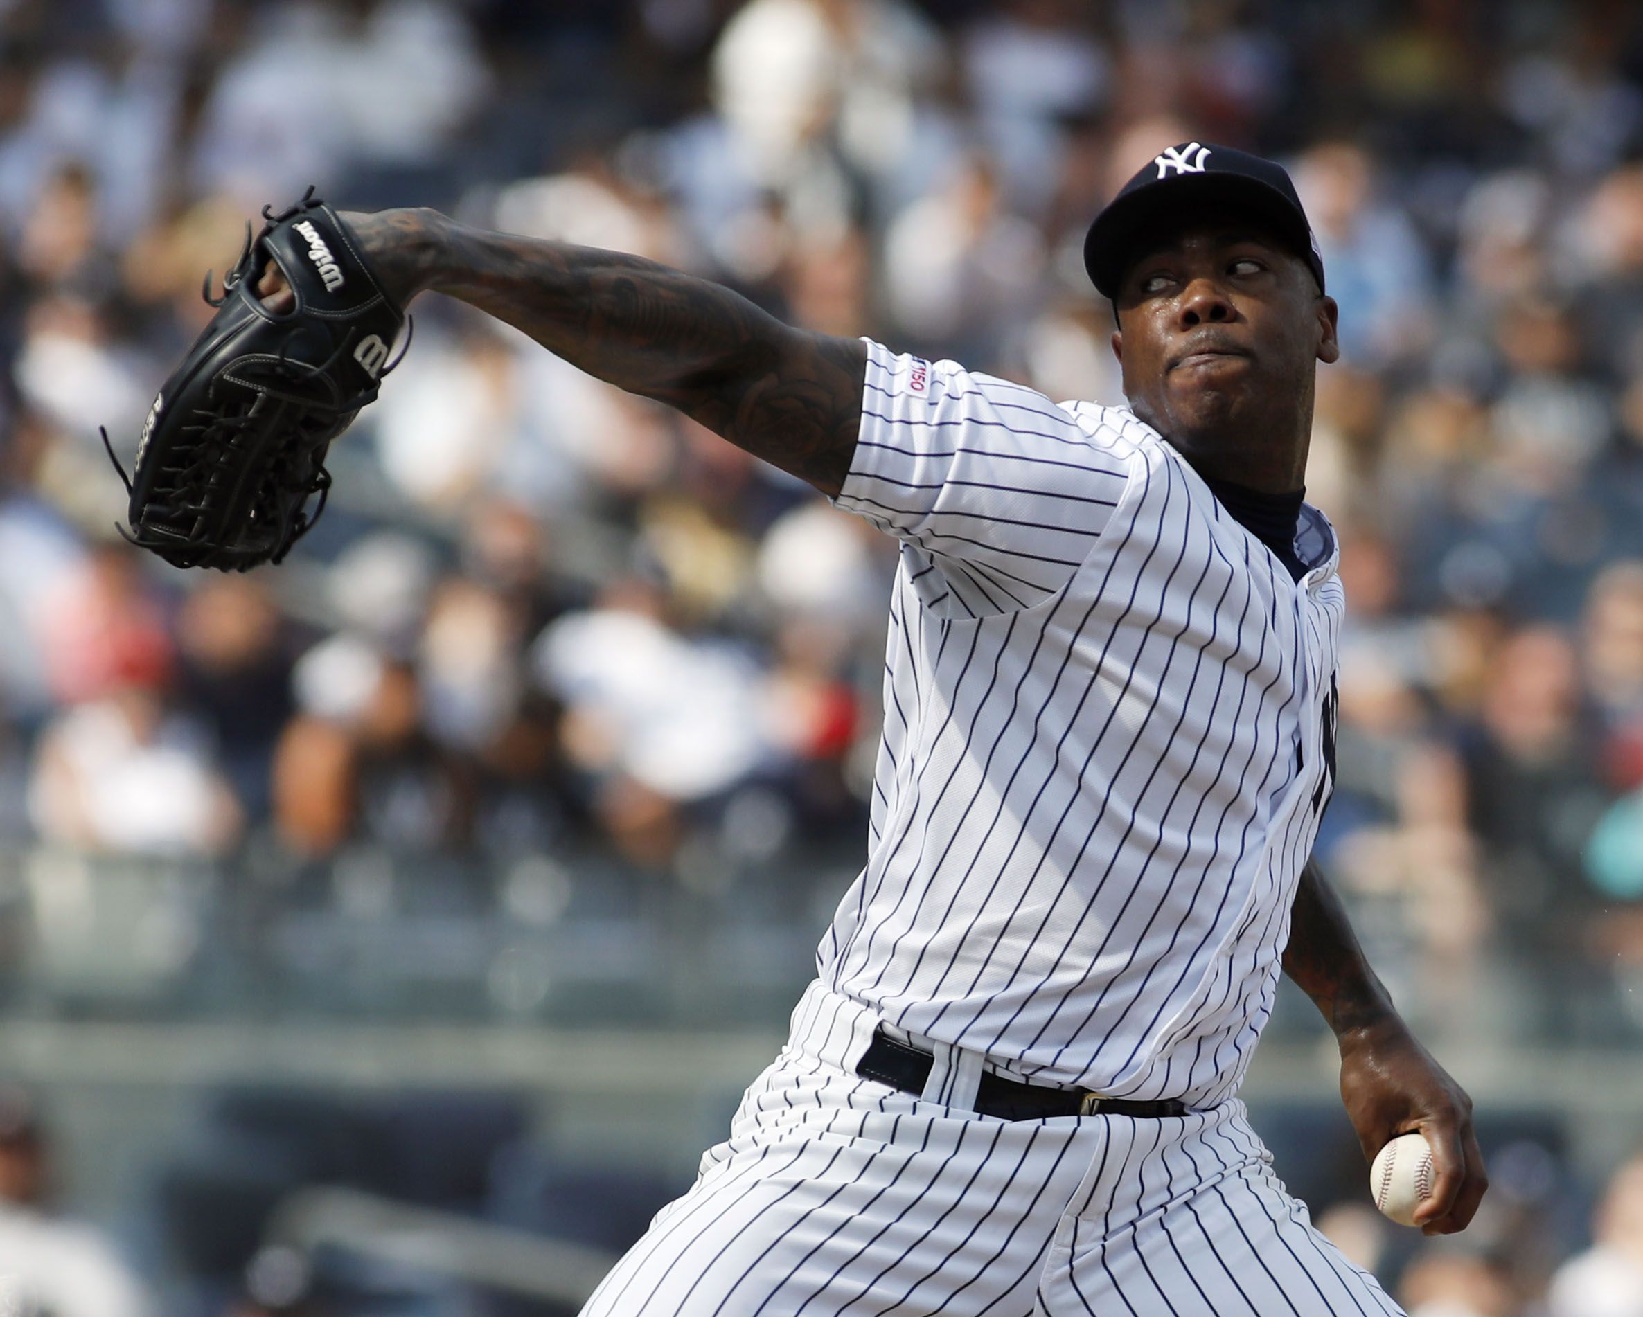
<svg viewBox="0 0 1643 1317">
<path fill-rule="evenodd" d="M 143 1317 L 148 1299 L 95 1230 L 49 1210 L 49 1138 L 28 1095 L 0 1087 L 0 1306 L 53 1317 Z"/>
</svg>

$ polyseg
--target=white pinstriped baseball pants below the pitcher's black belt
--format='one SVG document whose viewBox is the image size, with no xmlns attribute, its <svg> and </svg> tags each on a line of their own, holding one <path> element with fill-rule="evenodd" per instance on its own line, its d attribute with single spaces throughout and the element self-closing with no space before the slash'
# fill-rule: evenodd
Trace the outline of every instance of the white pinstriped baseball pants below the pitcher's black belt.
<svg viewBox="0 0 1643 1317">
<path fill-rule="evenodd" d="M 1313 1230 L 1242 1102 L 1163 1120 L 964 1108 L 859 1079 L 874 1016 L 812 985 L 729 1138 L 583 1317 L 1388 1317 Z M 923 1039 L 915 1039 L 928 1046 Z"/>
</svg>

